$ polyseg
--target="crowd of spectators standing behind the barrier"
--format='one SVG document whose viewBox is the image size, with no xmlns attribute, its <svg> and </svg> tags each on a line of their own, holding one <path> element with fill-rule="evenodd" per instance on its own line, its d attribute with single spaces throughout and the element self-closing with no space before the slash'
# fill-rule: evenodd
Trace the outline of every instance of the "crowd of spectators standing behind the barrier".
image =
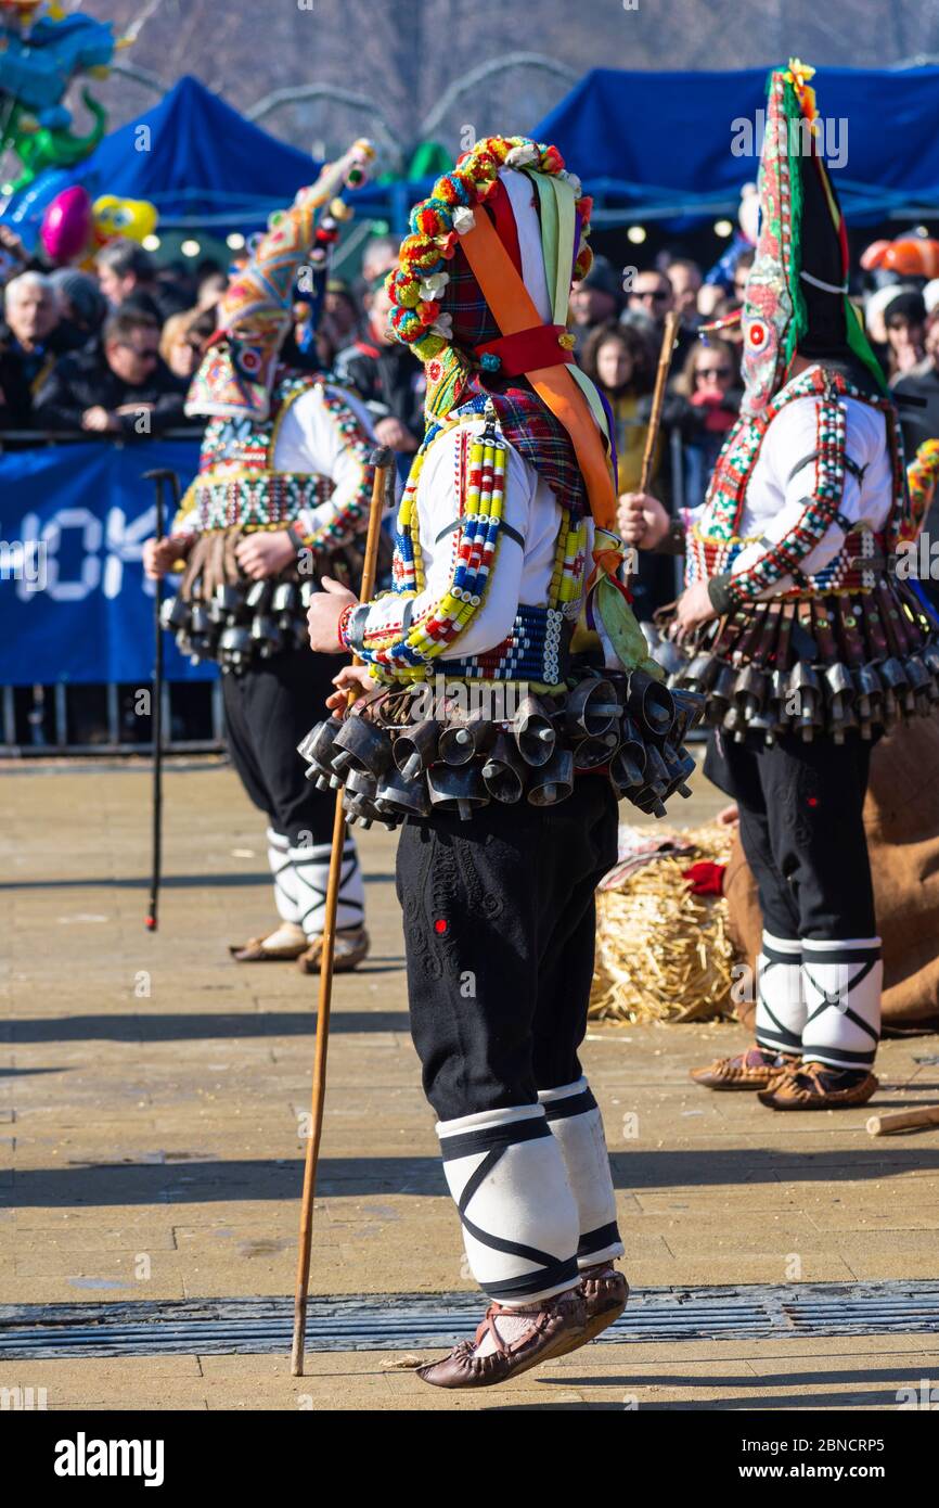
<svg viewBox="0 0 939 1508">
<path fill-rule="evenodd" d="M 422 371 L 386 327 L 384 279 L 396 243 L 372 237 L 357 282 L 330 279 L 318 318 L 294 306 L 285 351 L 332 371 L 366 401 L 381 443 L 402 458 L 424 433 Z M 616 268 L 597 256 L 571 296 L 576 354 L 609 400 L 622 490 L 639 481 L 665 317 L 680 317 L 653 483 L 699 502 L 740 404 L 740 327 L 699 338 L 702 324 L 740 306 L 754 252 L 705 276 L 689 256 L 662 252 Z M 158 434 L 185 424 L 185 392 L 216 329 L 229 268 L 216 261 L 160 265 L 134 241 L 112 241 L 89 270 L 47 270 L 0 226 L 0 431 Z M 859 312 L 897 398 L 909 404 L 907 440 L 939 434 L 939 279 L 868 273 Z M 675 445 L 675 437 L 678 445 Z"/>
</svg>

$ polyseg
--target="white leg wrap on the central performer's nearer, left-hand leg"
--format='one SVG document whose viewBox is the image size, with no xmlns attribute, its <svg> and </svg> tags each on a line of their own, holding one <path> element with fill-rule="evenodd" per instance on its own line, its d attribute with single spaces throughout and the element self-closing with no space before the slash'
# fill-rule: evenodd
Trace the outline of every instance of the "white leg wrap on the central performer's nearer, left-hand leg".
<svg viewBox="0 0 939 1508">
<path fill-rule="evenodd" d="M 577 1202 L 541 1105 L 437 1123 L 470 1271 L 502 1304 L 531 1304 L 579 1283 Z"/>
</svg>

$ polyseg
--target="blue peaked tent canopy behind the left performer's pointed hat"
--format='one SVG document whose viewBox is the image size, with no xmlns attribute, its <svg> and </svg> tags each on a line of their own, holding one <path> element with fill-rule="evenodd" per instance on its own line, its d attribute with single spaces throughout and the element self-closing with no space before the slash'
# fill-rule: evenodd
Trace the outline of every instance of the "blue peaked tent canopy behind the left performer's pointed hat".
<svg viewBox="0 0 939 1508">
<path fill-rule="evenodd" d="M 152 110 L 122 125 L 77 167 L 44 173 L 8 205 L 5 219 L 38 229 L 62 188 L 92 198 L 149 199 L 163 229 L 194 226 L 226 235 L 265 225 L 320 164 L 238 115 L 197 78 L 181 78 Z"/>
</svg>

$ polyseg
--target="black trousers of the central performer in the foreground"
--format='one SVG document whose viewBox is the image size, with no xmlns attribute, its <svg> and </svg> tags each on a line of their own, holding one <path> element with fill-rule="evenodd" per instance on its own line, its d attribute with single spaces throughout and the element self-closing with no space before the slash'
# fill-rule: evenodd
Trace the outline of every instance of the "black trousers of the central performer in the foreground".
<svg viewBox="0 0 939 1508">
<path fill-rule="evenodd" d="M 616 863 L 603 775 L 558 807 L 491 802 L 398 844 L 411 1034 L 440 1120 L 535 1104 L 580 1075 L 594 890 Z"/>
</svg>

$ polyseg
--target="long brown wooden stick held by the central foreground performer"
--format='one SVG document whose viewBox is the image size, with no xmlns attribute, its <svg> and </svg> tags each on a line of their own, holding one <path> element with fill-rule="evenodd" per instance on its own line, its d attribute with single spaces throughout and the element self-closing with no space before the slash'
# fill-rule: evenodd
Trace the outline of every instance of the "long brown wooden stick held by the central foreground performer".
<svg viewBox="0 0 939 1508">
<path fill-rule="evenodd" d="M 384 513 L 387 475 L 392 466 L 392 451 L 380 445 L 372 451 L 375 467 L 372 502 L 368 517 L 365 564 L 362 567 L 360 600 L 368 602 L 375 590 L 375 562 L 378 559 L 378 537 Z M 354 665 L 362 661 L 353 659 Z M 356 700 L 350 691 L 347 710 Z M 314 1199 L 317 1194 L 317 1167 L 320 1163 L 320 1139 L 323 1134 L 323 1104 L 326 1099 L 326 1051 L 329 1047 L 329 1013 L 333 997 L 333 955 L 336 944 L 336 905 L 339 900 L 339 875 L 342 873 L 342 849 L 345 844 L 345 813 L 342 810 L 342 787 L 336 792 L 336 816 L 333 820 L 333 846 L 329 861 L 329 884 L 326 887 L 326 920 L 323 924 L 323 952 L 320 955 L 320 1004 L 317 1007 L 317 1044 L 314 1051 L 314 1093 L 310 1110 L 310 1134 L 306 1143 L 303 1169 L 303 1199 L 300 1203 L 300 1243 L 297 1255 L 297 1292 L 294 1295 L 294 1344 L 291 1350 L 291 1375 L 303 1377 L 303 1344 L 306 1330 L 306 1300 L 309 1288 L 310 1249 L 314 1235 Z"/>
</svg>

